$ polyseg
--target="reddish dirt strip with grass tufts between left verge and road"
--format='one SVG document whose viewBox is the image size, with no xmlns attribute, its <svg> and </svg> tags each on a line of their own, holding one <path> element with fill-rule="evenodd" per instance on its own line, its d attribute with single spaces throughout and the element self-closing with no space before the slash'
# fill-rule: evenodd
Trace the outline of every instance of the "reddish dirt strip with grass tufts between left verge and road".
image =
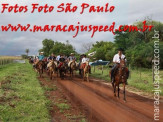
<svg viewBox="0 0 163 122">
<path fill-rule="evenodd" d="M 47 74 L 44 78 L 38 78 L 42 87 L 45 89 L 45 95 L 51 101 L 50 115 L 52 122 L 85 122 L 87 121 L 87 111 L 85 106 L 73 99 L 57 80 L 50 80 Z"/>
</svg>

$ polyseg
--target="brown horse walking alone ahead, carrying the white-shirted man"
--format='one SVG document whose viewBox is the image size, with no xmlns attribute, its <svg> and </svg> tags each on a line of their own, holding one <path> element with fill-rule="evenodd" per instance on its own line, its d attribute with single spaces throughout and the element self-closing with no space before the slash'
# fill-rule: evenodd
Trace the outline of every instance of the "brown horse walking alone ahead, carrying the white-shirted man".
<svg viewBox="0 0 163 122">
<path fill-rule="evenodd" d="M 127 73 L 128 69 L 126 67 L 125 59 L 120 58 L 120 64 L 117 65 L 117 70 L 115 71 L 115 76 L 114 76 L 114 83 L 112 83 L 113 90 L 114 90 L 114 96 L 116 96 L 116 87 L 118 87 L 118 98 L 119 98 L 119 85 L 123 84 L 123 94 L 124 94 L 124 101 L 126 101 L 126 96 L 125 96 L 125 86 L 127 83 Z M 111 72 L 110 72 L 111 76 Z"/>
</svg>

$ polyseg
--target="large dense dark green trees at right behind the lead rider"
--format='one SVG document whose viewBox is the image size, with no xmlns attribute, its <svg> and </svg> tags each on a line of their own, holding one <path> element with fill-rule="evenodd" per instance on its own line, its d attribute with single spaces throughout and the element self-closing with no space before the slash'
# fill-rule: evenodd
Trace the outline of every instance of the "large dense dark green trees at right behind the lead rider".
<svg viewBox="0 0 163 122">
<path fill-rule="evenodd" d="M 129 64 L 134 67 L 152 67 L 154 40 L 152 37 L 155 34 L 155 30 L 159 31 L 160 36 L 160 59 L 163 59 L 163 23 L 147 20 L 147 25 L 153 25 L 152 30 L 145 32 L 116 32 L 115 45 L 125 50 L 125 54 Z M 137 22 L 138 28 L 143 27 L 142 22 Z M 161 60 L 161 68 L 163 61 Z"/>
</svg>

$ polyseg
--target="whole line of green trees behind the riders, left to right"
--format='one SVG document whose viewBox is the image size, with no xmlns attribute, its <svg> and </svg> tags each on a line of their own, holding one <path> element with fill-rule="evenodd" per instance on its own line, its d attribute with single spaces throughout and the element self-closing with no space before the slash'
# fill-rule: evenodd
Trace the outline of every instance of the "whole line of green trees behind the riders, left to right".
<svg viewBox="0 0 163 122">
<path fill-rule="evenodd" d="M 147 24 L 154 25 L 153 29 L 145 32 L 115 32 L 114 41 L 96 41 L 90 46 L 88 42 L 89 50 L 86 54 L 96 51 L 95 55 L 91 57 L 91 60 L 107 60 L 112 61 L 113 56 L 117 53 L 119 47 L 124 49 L 124 54 L 128 60 L 128 64 L 134 67 L 151 68 L 153 53 L 154 53 L 154 30 L 159 31 L 160 36 L 160 64 L 163 68 L 163 23 L 153 20 L 147 20 Z M 135 26 L 141 28 L 142 22 L 134 23 Z M 125 25 L 124 25 L 125 26 Z M 75 53 L 79 58 L 79 54 L 75 51 L 75 48 L 66 41 L 66 43 L 53 41 L 51 39 L 44 39 L 42 41 L 43 48 L 39 51 L 43 51 L 46 56 L 51 53 L 65 54 Z M 85 44 L 87 45 L 87 44 Z M 91 48 L 90 48 L 91 47 Z M 85 46 L 85 48 L 87 48 Z"/>
</svg>

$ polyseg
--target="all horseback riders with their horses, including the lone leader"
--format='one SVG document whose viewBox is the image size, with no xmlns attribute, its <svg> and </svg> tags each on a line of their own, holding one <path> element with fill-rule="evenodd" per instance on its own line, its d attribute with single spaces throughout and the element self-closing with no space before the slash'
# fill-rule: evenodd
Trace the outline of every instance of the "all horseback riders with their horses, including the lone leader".
<svg viewBox="0 0 163 122">
<path fill-rule="evenodd" d="M 87 58 L 85 54 L 82 54 L 80 56 L 79 63 L 77 63 L 76 57 L 74 56 L 73 53 L 71 53 L 68 58 L 63 54 L 60 54 L 56 57 L 53 53 L 48 58 L 45 58 L 44 53 L 41 52 L 40 55 L 37 57 L 37 59 L 35 58 L 34 62 L 33 62 L 34 67 L 37 67 L 37 64 L 39 63 L 38 67 L 40 67 L 40 68 L 38 68 L 39 69 L 38 71 L 39 71 L 40 77 L 41 77 L 41 74 L 43 73 L 43 69 L 40 64 L 42 64 L 43 62 L 47 62 L 47 64 L 46 64 L 47 70 L 54 69 L 52 67 L 55 63 L 56 69 L 57 70 L 59 69 L 61 79 L 64 78 L 62 76 L 64 76 L 67 69 L 69 69 L 69 71 L 70 71 L 70 77 L 73 76 L 74 69 L 72 68 L 72 66 L 74 67 L 74 65 L 75 65 L 75 67 L 78 67 L 79 74 L 82 76 L 83 80 L 85 80 L 85 78 L 87 78 L 87 82 L 89 82 L 88 76 L 89 76 L 89 73 L 91 73 L 91 67 L 89 65 L 89 58 Z M 111 82 L 112 82 L 112 86 L 113 86 L 114 96 L 116 96 L 116 88 L 118 87 L 118 98 L 119 98 L 119 93 L 120 93 L 119 92 L 120 91 L 119 84 L 123 84 L 123 94 L 124 94 L 123 99 L 124 99 L 124 101 L 126 101 L 125 85 L 128 84 L 127 79 L 129 77 L 129 70 L 126 67 L 126 62 L 127 62 L 127 60 L 126 60 L 125 55 L 123 54 L 123 49 L 119 48 L 118 53 L 115 54 L 113 57 L 113 66 L 110 71 L 110 77 L 111 77 Z M 67 68 L 65 68 L 65 64 L 67 65 Z M 54 73 L 54 70 L 49 70 L 50 78 L 52 79 L 51 71 Z M 42 72 L 42 73 L 40 73 L 40 72 Z M 57 72 L 57 76 L 58 76 L 58 72 Z"/>
</svg>

